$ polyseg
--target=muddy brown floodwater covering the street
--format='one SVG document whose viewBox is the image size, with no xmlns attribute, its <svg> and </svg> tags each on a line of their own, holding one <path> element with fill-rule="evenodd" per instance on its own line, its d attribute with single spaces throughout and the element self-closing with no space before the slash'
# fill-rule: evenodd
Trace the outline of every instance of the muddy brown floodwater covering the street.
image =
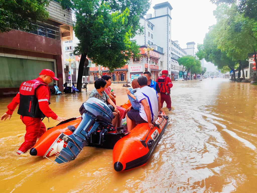
<svg viewBox="0 0 257 193">
<path fill-rule="evenodd" d="M 124 103 L 126 88 L 112 88 Z M 257 86 L 214 78 L 173 82 L 171 93 L 170 124 L 149 162 L 121 173 L 112 150 L 85 147 L 61 166 L 15 155 L 25 134 L 16 110 L 0 122 L 0 192 L 257 192 Z M 51 96 L 50 107 L 76 117 L 89 94 Z M 1 115 L 11 99 L 1 98 Z"/>
</svg>

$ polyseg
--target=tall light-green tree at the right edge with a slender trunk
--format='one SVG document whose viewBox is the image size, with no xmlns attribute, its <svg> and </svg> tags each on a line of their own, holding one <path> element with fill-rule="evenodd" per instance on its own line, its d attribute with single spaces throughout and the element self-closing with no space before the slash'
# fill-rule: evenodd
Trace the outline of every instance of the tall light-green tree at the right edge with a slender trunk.
<svg viewBox="0 0 257 193">
<path fill-rule="evenodd" d="M 218 6 L 214 15 L 219 23 L 219 32 L 216 36 L 218 48 L 225 51 L 233 60 L 238 61 L 245 80 L 243 63 L 248 53 L 253 52 L 257 47 L 257 37 L 252 31 L 255 20 L 240 14 L 235 4 Z"/>
</svg>

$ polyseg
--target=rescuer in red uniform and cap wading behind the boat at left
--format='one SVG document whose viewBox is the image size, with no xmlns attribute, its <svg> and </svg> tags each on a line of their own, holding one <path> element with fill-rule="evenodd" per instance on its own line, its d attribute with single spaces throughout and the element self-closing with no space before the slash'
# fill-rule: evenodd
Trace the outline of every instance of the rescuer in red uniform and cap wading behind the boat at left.
<svg viewBox="0 0 257 193">
<path fill-rule="evenodd" d="M 21 120 L 26 125 L 25 141 L 20 146 L 17 154 L 22 154 L 29 150 L 36 143 L 45 131 L 45 125 L 41 118 L 51 117 L 58 121 L 65 121 L 65 118 L 58 117 L 50 108 L 50 89 L 49 84 L 53 80 L 59 80 L 54 76 L 54 72 L 49 69 L 43 69 L 39 73 L 39 77 L 23 82 L 19 92 L 8 104 L 7 112 L 1 117 L 1 120 L 11 118 L 13 111 L 19 104 L 18 114 L 21 115 Z"/>
</svg>

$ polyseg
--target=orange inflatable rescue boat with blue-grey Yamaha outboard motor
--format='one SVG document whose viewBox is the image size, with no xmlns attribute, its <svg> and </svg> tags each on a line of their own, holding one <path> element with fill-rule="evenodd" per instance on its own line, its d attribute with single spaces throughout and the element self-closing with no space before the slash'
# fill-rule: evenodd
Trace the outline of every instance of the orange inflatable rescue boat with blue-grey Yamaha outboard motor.
<svg viewBox="0 0 257 193">
<path fill-rule="evenodd" d="M 57 165 L 75 160 L 84 146 L 113 149 L 116 171 L 145 165 L 168 125 L 168 117 L 160 111 L 153 129 L 138 124 L 131 132 L 112 126 L 113 113 L 96 98 L 90 98 L 79 109 L 81 117 L 60 122 L 48 129 L 30 150 Z M 55 155 L 55 156 L 52 156 Z"/>
</svg>

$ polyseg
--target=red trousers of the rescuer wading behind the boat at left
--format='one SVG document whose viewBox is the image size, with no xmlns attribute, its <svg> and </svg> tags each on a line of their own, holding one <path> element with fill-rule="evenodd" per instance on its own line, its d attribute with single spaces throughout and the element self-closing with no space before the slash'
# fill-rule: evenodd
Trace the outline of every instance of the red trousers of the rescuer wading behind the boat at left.
<svg viewBox="0 0 257 193">
<path fill-rule="evenodd" d="M 36 140 L 43 135 L 46 131 L 44 123 L 41 118 L 33 118 L 27 116 L 21 116 L 21 120 L 26 125 L 25 141 L 21 144 L 18 154 L 28 151 L 36 143 Z"/>
</svg>

